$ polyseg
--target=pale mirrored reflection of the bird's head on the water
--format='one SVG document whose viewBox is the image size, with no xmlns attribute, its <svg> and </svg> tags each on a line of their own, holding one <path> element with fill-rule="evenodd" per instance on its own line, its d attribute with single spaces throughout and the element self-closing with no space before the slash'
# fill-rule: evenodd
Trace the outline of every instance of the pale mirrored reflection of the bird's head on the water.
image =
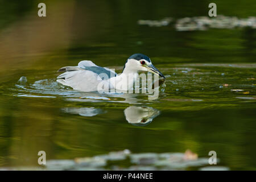
<svg viewBox="0 0 256 182">
<path fill-rule="evenodd" d="M 160 114 L 159 110 L 152 107 L 130 106 L 124 111 L 126 120 L 135 126 L 147 126 Z"/>
</svg>

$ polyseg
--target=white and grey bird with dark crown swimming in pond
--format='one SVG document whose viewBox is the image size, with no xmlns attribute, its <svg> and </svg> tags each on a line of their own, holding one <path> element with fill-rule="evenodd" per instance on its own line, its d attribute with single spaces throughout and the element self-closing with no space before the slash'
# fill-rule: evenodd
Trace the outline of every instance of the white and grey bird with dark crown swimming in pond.
<svg viewBox="0 0 256 182">
<path fill-rule="evenodd" d="M 75 67 L 63 67 L 58 72 L 57 82 L 71 86 L 82 92 L 95 92 L 109 89 L 130 90 L 138 78 L 138 72 L 151 72 L 161 79 L 166 77 L 152 64 L 150 58 L 142 53 L 131 55 L 125 62 L 120 74 L 112 69 L 99 67 L 90 60 L 80 61 Z"/>
</svg>

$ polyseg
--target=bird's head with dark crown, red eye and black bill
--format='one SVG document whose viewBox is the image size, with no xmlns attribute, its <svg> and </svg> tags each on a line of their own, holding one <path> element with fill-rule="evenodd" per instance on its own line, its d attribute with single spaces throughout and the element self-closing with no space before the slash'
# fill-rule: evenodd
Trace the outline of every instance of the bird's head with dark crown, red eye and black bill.
<svg viewBox="0 0 256 182">
<path fill-rule="evenodd" d="M 143 55 L 142 53 L 135 53 L 134 55 L 131 55 L 126 63 L 125 67 L 123 67 L 123 73 L 124 72 L 138 72 L 138 71 L 147 71 L 151 72 L 153 74 L 159 75 L 162 78 L 164 75 L 154 67 L 149 57 L 146 55 Z"/>
</svg>

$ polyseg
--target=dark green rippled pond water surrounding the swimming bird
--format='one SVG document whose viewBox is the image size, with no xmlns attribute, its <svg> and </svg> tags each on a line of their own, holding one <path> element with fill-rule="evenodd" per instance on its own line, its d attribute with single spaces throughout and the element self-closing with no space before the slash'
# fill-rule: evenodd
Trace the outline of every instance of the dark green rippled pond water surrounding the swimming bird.
<svg viewBox="0 0 256 182">
<path fill-rule="evenodd" d="M 230 2 L 232 4 L 229 5 Z M 139 19 L 207 16 L 208 1 L 3 1 L 0 6 L 0 167 L 39 166 L 129 149 L 216 151 L 218 166 L 256 169 L 256 30 L 177 32 Z M 254 1 L 216 1 L 218 13 L 255 16 Z M 144 53 L 166 76 L 159 97 L 82 93 L 56 82 L 57 69 L 92 60 L 119 73 Z M 26 83 L 19 82 L 25 76 Z M 132 125 L 143 106 L 151 122 Z"/>
</svg>

